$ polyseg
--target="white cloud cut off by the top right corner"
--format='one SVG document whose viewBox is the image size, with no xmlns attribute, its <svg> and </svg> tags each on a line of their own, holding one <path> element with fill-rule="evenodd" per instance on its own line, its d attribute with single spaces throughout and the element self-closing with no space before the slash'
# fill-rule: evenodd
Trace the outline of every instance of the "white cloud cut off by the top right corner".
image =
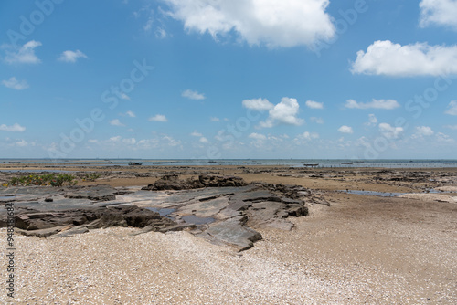
<svg viewBox="0 0 457 305">
<path fill-rule="evenodd" d="M 422 0 L 420 1 L 420 26 L 451 26 L 457 30 L 457 1 Z"/>
</svg>

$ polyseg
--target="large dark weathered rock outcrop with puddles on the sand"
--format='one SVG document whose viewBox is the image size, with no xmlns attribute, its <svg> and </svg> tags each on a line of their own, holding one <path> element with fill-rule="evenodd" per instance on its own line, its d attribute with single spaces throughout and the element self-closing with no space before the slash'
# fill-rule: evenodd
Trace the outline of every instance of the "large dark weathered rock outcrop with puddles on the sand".
<svg viewBox="0 0 457 305">
<path fill-rule="evenodd" d="M 0 209 L 15 207 L 16 233 L 35 237 L 71 237 L 110 226 L 147 232 L 188 230 L 191 234 L 241 251 L 262 237 L 256 228 L 291 230 L 289 217 L 308 214 L 310 190 L 283 184 L 247 184 L 236 176 L 201 174 L 180 179 L 166 174 L 140 188 L 106 184 L 0 189 Z M 6 213 L 0 214 L 6 226 Z"/>
</svg>

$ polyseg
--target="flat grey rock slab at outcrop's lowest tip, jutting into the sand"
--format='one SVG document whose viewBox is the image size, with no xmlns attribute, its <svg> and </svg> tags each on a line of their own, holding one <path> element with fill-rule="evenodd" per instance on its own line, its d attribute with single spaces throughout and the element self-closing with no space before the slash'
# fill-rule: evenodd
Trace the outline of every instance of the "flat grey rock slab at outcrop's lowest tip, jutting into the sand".
<svg viewBox="0 0 457 305">
<path fill-rule="evenodd" d="M 259 232 L 233 221 L 210 226 L 205 232 L 219 241 L 239 247 L 240 251 L 253 247 L 254 242 L 262 238 Z"/>
</svg>

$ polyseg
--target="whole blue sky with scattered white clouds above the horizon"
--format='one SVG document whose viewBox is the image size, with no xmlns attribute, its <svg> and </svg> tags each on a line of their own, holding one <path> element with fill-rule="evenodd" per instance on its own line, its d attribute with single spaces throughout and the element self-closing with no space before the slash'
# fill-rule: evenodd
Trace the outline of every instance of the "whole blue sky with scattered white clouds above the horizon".
<svg viewBox="0 0 457 305">
<path fill-rule="evenodd" d="M 0 158 L 449 158 L 457 1 L 2 1 Z"/>
</svg>

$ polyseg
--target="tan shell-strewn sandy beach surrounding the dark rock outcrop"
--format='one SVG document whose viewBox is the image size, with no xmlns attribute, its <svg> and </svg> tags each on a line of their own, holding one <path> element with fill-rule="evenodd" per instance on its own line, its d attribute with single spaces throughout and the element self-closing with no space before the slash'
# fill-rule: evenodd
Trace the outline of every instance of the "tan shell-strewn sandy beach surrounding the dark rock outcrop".
<svg viewBox="0 0 457 305">
<path fill-rule="evenodd" d="M 84 184 L 113 186 L 150 184 L 166 172 L 237 174 L 248 182 L 300 184 L 322 192 L 332 205 L 310 205 L 310 216 L 294 218 L 292 231 L 262 229 L 263 240 L 241 253 L 187 232 L 126 237 L 135 229 L 114 227 L 69 238 L 16 236 L 17 304 L 457 302 L 457 204 L 431 197 L 336 192 L 421 193 L 456 186 L 456 169 L 213 166 L 90 171 L 102 176 Z M 0 254 L 5 258 L 5 228 L 1 232 Z M 0 276 L 5 279 L 5 268 Z M 2 293 L 0 302 L 7 300 Z"/>
</svg>

